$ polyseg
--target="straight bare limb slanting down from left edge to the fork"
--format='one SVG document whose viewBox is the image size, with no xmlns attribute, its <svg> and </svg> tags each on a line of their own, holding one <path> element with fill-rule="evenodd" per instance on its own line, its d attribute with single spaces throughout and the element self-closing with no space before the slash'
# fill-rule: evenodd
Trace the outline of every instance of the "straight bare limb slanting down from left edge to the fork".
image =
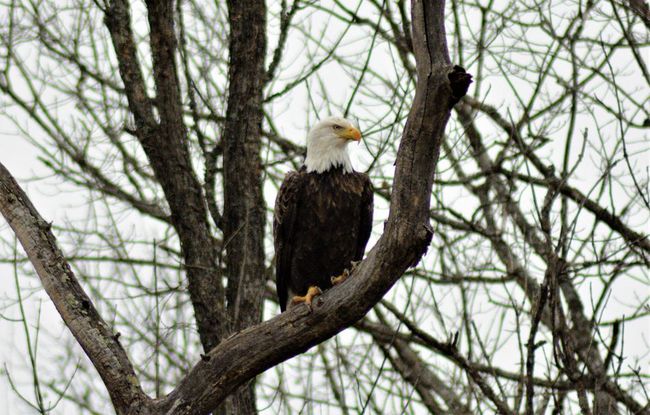
<svg viewBox="0 0 650 415">
<path fill-rule="evenodd" d="M 149 398 L 118 341 L 101 318 L 56 244 L 52 224 L 36 211 L 0 164 L 0 212 L 25 249 L 61 318 L 101 376 L 118 414 L 139 414 Z"/>
</svg>

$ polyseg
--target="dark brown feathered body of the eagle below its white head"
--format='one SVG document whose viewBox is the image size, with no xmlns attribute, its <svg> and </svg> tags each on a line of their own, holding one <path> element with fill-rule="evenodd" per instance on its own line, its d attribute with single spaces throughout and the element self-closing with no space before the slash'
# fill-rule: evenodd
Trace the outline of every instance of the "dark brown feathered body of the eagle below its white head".
<svg viewBox="0 0 650 415">
<path fill-rule="evenodd" d="M 327 289 L 330 278 L 359 261 L 372 228 L 372 188 L 366 174 L 323 173 L 305 168 L 287 174 L 275 204 L 276 283 L 284 311 L 310 286 Z"/>
</svg>

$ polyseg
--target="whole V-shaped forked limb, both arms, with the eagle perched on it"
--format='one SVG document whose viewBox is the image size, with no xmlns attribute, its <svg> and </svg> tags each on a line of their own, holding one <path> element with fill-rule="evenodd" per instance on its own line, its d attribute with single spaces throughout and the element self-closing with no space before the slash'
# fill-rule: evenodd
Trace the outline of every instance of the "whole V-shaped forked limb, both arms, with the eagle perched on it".
<svg viewBox="0 0 650 415">
<path fill-rule="evenodd" d="M 313 311 L 295 307 L 221 341 L 167 396 L 150 400 L 125 351 L 76 281 L 54 236 L 9 173 L 0 170 L 0 209 L 65 323 L 102 376 L 118 413 L 204 414 L 244 382 L 357 322 L 419 262 L 432 236 L 433 175 L 450 108 L 471 82 L 450 65 L 444 2 L 412 2 L 418 83 L 397 160 L 385 231 L 355 276 L 326 292 Z"/>
</svg>

